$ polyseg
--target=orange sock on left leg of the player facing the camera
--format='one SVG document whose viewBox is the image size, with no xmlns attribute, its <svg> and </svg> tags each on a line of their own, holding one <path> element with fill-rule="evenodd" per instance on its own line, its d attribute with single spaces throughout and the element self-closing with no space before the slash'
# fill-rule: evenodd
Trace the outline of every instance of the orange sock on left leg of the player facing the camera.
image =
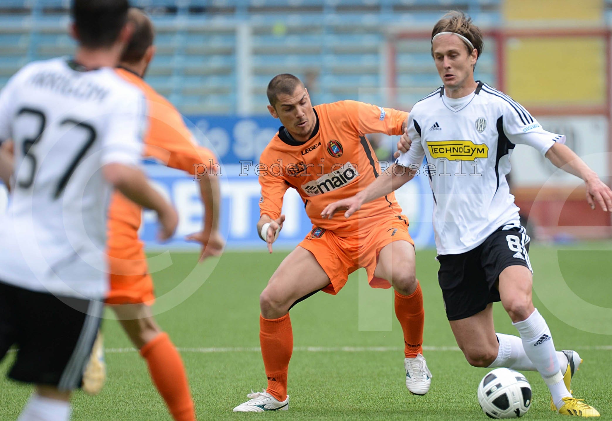
<svg viewBox="0 0 612 421">
<path fill-rule="evenodd" d="M 279 401 L 287 398 L 287 373 L 293 352 L 293 330 L 289 313 L 278 319 L 259 316 L 259 343 L 270 393 Z"/>
</svg>

